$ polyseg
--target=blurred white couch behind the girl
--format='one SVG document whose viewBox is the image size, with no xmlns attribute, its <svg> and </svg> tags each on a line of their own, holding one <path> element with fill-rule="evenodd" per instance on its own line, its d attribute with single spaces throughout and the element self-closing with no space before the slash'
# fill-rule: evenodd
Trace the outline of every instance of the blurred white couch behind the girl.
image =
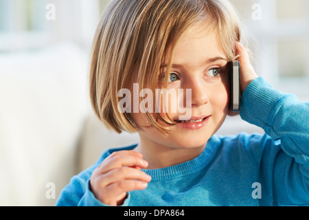
<svg viewBox="0 0 309 220">
<path fill-rule="evenodd" d="M 106 148 L 138 142 L 106 131 L 93 115 L 88 63 L 71 44 L 0 55 L 0 206 L 54 206 Z M 259 131 L 232 118 L 218 133 L 237 133 L 236 124 Z"/>
</svg>

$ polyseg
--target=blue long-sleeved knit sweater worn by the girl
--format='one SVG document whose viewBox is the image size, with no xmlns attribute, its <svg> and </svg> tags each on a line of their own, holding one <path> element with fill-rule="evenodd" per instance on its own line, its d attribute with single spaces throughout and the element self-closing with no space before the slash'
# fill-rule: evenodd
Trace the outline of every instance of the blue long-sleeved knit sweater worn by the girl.
<svg viewBox="0 0 309 220">
<path fill-rule="evenodd" d="M 290 206 L 309 205 L 309 103 L 283 94 L 263 78 L 242 95 L 240 116 L 265 135 L 219 137 L 195 159 L 144 170 L 152 177 L 145 190 L 128 193 L 123 206 Z M 56 206 L 104 206 L 89 190 L 91 173 L 113 151 L 72 177 Z"/>
</svg>

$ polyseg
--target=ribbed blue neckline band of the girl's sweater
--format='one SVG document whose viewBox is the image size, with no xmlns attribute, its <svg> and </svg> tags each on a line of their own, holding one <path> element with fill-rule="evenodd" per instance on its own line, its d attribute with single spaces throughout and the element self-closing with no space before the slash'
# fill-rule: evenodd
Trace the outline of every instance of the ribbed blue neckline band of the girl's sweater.
<svg viewBox="0 0 309 220">
<path fill-rule="evenodd" d="M 207 145 L 204 149 L 204 151 L 195 157 L 194 159 L 191 159 L 187 162 L 183 162 L 181 164 L 176 164 L 174 166 L 168 166 L 165 168 L 156 168 L 156 169 L 142 169 L 146 174 L 150 175 L 152 177 L 152 181 L 159 181 L 163 179 L 173 179 L 176 177 L 182 177 L 184 175 L 190 175 L 192 173 L 196 173 L 207 164 L 209 164 L 209 160 L 211 155 L 213 155 L 214 147 L 215 147 L 215 141 L 218 137 L 211 137 Z"/>
</svg>

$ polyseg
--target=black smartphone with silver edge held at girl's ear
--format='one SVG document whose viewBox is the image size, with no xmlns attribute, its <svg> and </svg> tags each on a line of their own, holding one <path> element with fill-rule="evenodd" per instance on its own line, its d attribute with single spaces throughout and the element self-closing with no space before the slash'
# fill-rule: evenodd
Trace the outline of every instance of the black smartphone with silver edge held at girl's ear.
<svg viewBox="0 0 309 220">
<path fill-rule="evenodd" d="M 229 69 L 230 69 L 229 109 L 231 111 L 240 111 L 240 63 L 239 61 L 229 62 Z"/>
</svg>

